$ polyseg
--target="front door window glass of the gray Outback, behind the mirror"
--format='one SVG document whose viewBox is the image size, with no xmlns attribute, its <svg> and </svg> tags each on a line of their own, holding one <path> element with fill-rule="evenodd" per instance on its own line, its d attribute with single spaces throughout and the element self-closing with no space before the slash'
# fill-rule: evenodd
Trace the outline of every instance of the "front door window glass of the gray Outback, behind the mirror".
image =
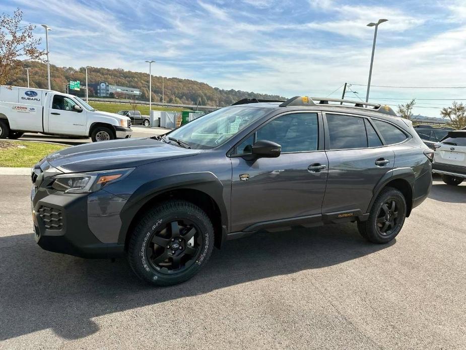
<svg viewBox="0 0 466 350">
<path fill-rule="evenodd" d="M 257 130 L 256 139 L 278 143 L 282 146 L 282 153 L 315 151 L 318 144 L 317 114 L 279 116 Z"/>
</svg>

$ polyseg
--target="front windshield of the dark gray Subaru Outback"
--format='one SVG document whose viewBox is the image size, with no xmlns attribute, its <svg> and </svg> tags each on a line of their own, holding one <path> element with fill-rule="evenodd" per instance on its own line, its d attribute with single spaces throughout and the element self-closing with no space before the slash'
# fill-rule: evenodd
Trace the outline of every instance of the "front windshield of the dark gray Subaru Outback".
<svg viewBox="0 0 466 350">
<path fill-rule="evenodd" d="M 248 125 L 267 114 L 269 108 L 225 107 L 194 119 L 169 134 L 191 148 L 220 146 Z"/>
</svg>

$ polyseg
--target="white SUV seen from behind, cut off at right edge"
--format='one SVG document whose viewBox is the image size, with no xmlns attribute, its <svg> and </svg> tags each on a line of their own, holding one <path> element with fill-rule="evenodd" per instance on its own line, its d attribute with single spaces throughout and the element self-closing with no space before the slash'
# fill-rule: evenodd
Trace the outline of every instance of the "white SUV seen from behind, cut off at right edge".
<svg viewBox="0 0 466 350">
<path fill-rule="evenodd" d="M 450 131 L 434 146 L 432 172 L 442 175 L 448 185 L 459 185 L 466 179 L 466 130 Z"/>
</svg>

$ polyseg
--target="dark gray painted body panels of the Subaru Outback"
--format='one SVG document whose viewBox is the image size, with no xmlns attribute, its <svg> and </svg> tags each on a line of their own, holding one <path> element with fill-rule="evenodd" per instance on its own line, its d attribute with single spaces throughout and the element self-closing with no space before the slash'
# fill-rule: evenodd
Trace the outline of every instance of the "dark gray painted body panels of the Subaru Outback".
<svg viewBox="0 0 466 350">
<path fill-rule="evenodd" d="M 256 103 L 251 108 L 267 108 L 269 112 L 213 149 L 185 149 L 174 142 L 141 138 L 92 143 L 49 155 L 42 166 L 49 163 L 47 166 L 66 172 L 135 169 L 124 180 L 89 195 L 57 193 L 39 186 L 32 197 L 36 211 L 40 205 L 49 205 L 73 216 L 72 225 L 67 222 L 61 231 L 39 227 L 39 244 L 80 256 L 117 256 L 124 252 L 140 210 L 154 198 L 166 198 L 164 194 L 176 191 L 208 196 L 205 198 L 214 203 L 221 225 L 216 244 L 262 228 L 365 220 L 375 196 L 394 180 L 412 193 L 407 198 L 409 211 L 427 197 L 431 186 L 431 162 L 423 153 L 427 147 L 402 119 L 335 105 L 279 107 L 278 103 Z M 317 150 L 255 160 L 232 154 L 237 143 L 268 121 L 303 111 L 318 114 Z M 329 150 L 325 113 L 330 112 L 390 122 L 403 130 L 407 139 L 374 148 Z M 377 166 L 379 159 L 388 162 Z M 310 171 L 308 167 L 315 164 L 325 167 Z M 50 182 L 52 175 L 41 176 Z M 73 214 L 71 208 L 76 208 Z M 65 239 L 61 243 L 47 239 L 57 236 Z"/>
</svg>

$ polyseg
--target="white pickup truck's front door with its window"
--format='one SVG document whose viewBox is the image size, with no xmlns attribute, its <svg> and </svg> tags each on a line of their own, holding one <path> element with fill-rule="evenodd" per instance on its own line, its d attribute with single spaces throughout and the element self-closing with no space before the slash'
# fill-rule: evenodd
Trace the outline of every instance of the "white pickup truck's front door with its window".
<svg viewBox="0 0 466 350">
<path fill-rule="evenodd" d="M 77 111 L 73 107 L 77 104 L 70 97 L 54 95 L 49 108 L 48 132 L 64 135 L 86 134 L 86 111 Z"/>
</svg>

